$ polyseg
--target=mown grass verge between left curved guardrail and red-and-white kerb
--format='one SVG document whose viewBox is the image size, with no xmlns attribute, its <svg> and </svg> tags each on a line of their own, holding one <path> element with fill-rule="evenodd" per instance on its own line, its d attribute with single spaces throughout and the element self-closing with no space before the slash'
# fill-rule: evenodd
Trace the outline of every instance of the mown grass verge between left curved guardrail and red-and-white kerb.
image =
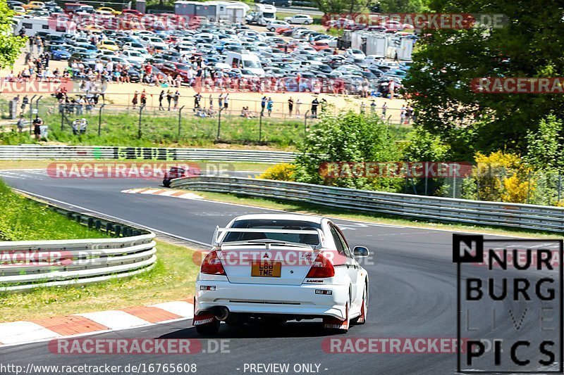
<svg viewBox="0 0 564 375">
<path fill-rule="evenodd" d="M 185 246 L 157 241 L 157 265 L 143 274 L 85 286 L 40 287 L 29 293 L 0 293 L 0 322 L 192 298 L 199 270 L 192 261 L 193 252 Z"/>
</svg>

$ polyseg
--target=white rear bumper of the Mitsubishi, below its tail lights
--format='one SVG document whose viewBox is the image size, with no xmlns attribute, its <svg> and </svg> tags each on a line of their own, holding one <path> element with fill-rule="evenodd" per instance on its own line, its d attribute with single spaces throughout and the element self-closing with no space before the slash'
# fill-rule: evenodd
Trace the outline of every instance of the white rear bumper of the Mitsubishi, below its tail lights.
<svg viewBox="0 0 564 375">
<path fill-rule="evenodd" d="M 215 286 L 215 290 L 202 291 L 202 286 Z M 316 290 L 331 291 L 331 294 L 316 294 Z M 195 295 L 195 314 L 224 306 L 230 312 L 345 319 L 348 286 L 234 284 L 229 281 L 200 280 L 196 282 Z"/>
</svg>

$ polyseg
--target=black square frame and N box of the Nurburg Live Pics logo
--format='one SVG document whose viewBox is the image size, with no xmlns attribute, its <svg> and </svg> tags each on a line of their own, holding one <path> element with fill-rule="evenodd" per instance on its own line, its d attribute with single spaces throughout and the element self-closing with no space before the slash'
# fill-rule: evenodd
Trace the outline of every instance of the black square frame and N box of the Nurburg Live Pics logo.
<svg viewBox="0 0 564 375">
<path fill-rule="evenodd" d="M 560 361 L 559 361 L 559 369 L 558 370 L 543 370 L 543 371 L 498 371 L 496 370 L 496 374 L 562 374 L 564 373 L 564 311 L 563 311 L 563 303 L 564 303 L 564 290 L 563 290 L 563 280 L 564 280 L 564 260 L 563 260 L 563 253 L 564 253 L 564 240 L 559 239 L 484 239 L 482 235 L 474 235 L 474 234 L 453 234 L 453 262 L 456 263 L 456 338 L 457 342 L 461 343 L 461 328 L 460 328 L 460 312 L 462 310 L 462 298 L 460 295 L 460 279 L 461 279 L 461 272 L 460 267 L 462 263 L 477 263 L 483 262 L 484 260 L 484 242 L 491 242 L 491 243 L 558 243 L 558 306 L 560 307 L 560 329 L 559 329 L 559 352 L 560 352 Z M 463 244 L 465 248 L 472 248 L 472 245 L 475 243 L 474 253 L 469 253 L 465 251 L 463 254 L 460 254 L 461 245 Z M 532 249 L 527 248 L 524 249 L 530 251 Z M 461 366 L 461 345 L 457 345 L 456 349 L 456 366 L 457 372 L 460 374 L 475 374 L 475 371 L 462 371 Z M 487 371 L 484 371 L 484 374 L 488 374 Z"/>
</svg>

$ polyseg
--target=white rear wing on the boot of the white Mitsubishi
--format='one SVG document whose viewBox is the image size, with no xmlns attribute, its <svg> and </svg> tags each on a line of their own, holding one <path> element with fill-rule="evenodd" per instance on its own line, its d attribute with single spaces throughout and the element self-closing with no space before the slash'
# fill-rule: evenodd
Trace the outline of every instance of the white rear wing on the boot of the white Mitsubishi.
<svg viewBox="0 0 564 375">
<path fill-rule="evenodd" d="M 232 242 L 227 242 L 227 243 L 223 243 L 223 239 L 226 237 L 224 234 L 227 233 L 281 233 L 281 234 L 313 234 L 317 236 L 317 245 L 310 245 L 307 243 L 297 243 L 297 242 L 290 242 L 290 241 L 277 241 L 277 240 L 271 240 L 269 241 L 268 239 L 264 239 L 265 241 L 262 241 L 262 239 L 257 239 L 257 240 L 247 240 L 247 241 L 232 241 Z M 223 238 L 222 238 L 223 237 Z M 291 245 L 291 246 L 299 246 L 299 247 L 303 247 L 303 248 L 312 248 L 314 250 L 317 250 L 319 248 L 325 248 L 325 236 L 323 234 L 323 231 L 321 231 L 321 229 L 315 228 L 315 229 L 267 229 L 267 228 L 252 228 L 252 229 L 248 229 L 248 228 L 220 228 L 219 226 L 216 227 L 216 230 L 214 231 L 214 237 L 212 238 L 212 246 L 216 247 L 216 248 L 221 248 L 221 246 L 223 244 L 229 244 L 229 245 L 243 245 L 243 244 L 247 244 L 247 245 L 260 245 L 260 244 L 265 244 L 267 247 L 269 245 Z"/>
</svg>

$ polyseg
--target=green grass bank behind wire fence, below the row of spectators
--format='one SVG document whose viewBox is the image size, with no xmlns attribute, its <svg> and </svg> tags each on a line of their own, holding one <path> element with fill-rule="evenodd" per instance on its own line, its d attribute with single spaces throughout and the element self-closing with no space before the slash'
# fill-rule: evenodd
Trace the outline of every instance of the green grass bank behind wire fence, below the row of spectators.
<svg viewBox="0 0 564 375">
<path fill-rule="evenodd" d="M 148 111 L 142 114 L 141 138 L 139 138 L 138 113 L 104 113 L 101 132 L 98 136 L 98 115 L 80 115 L 68 117 L 85 117 L 89 123 L 86 134 L 73 135 L 71 125 L 63 122 L 61 115 L 47 114 L 43 116 L 49 125 L 49 141 L 65 144 L 82 144 L 98 146 L 211 146 L 215 143 L 218 132 L 218 118 L 200 118 L 191 111 L 183 113 L 180 120 L 180 137 L 178 136 L 178 113 L 155 113 Z M 308 126 L 312 122 L 308 121 Z M 313 125 L 314 126 L 314 125 Z M 302 120 L 282 120 L 274 117 L 263 117 L 262 126 L 259 119 L 245 119 L 238 115 L 221 117 L 220 139 L 234 144 L 262 144 L 274 148 L 295 148 L 305 133 Z M 34 143 L 28 132 L 0 133 L 0 144 Z"/>
</svg>

